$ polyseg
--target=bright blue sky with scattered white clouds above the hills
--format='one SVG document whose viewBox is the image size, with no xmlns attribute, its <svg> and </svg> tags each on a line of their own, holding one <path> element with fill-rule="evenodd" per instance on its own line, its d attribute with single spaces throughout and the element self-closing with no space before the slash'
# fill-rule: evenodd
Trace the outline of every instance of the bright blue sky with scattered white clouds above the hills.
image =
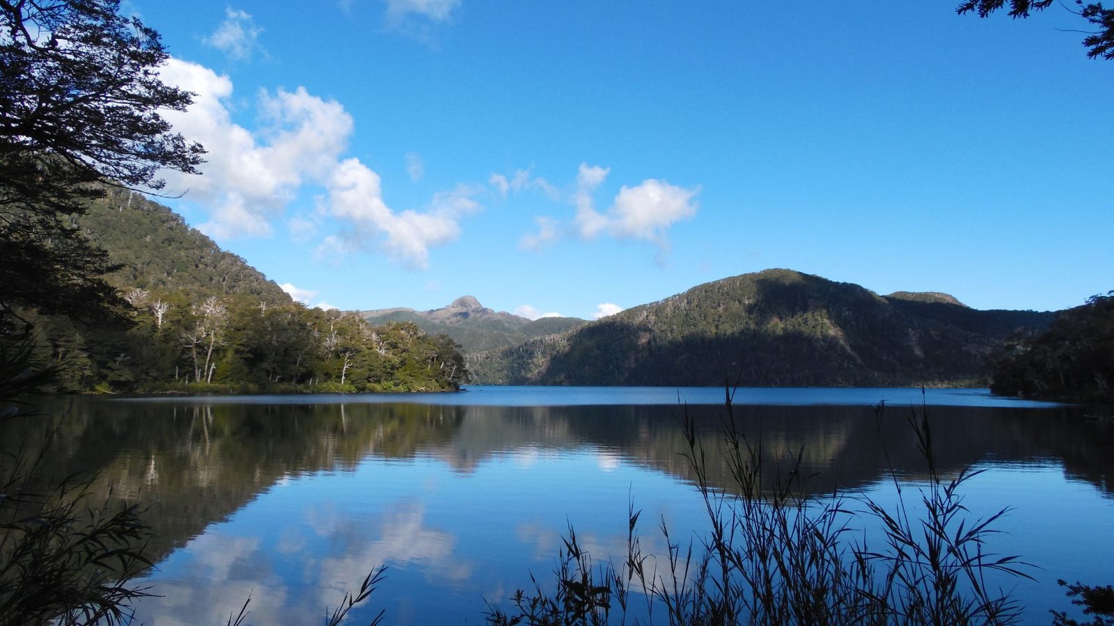
<svg viewBox="0 0 1114 626">
<path fill-rule="evenodd" d="M 1114 288 L 1114 63 L 954 2 L 130 0 L 187 222 L 311 305 L 594 317 L 768 267 L 977 309 Z"/>
</svg>

